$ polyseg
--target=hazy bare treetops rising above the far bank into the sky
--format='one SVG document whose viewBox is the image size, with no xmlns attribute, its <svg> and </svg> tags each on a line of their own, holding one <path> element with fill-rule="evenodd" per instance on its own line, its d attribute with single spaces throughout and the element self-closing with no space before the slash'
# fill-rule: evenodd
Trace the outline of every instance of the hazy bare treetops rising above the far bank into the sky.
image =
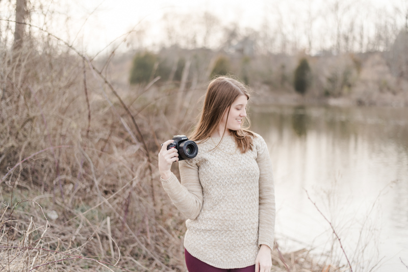
<svg viewBox="0 0 408 272">
<path fill-rule="evenodd" d="M 166 10 L 161 19 L 140 24 L 129 46 L 158 50 L 177 45 L 245 51 L 249 55 L 295 55 L 301 50 L 310 55 L 325 51 L 340 55 L 388 51 L 398 33 L 408 29 L 406 1 L 266 1 L 262 8 L 256 4 L 251 7 L 259 9 L 258 18 L 251 23 L 240 18 L 246 11 L 235 18 L 224 16 L 222 11 L 230 8 L 220 3 L 216 10 Z M 152 38 L 153 32 L 161 35 Z"/>
</svg>

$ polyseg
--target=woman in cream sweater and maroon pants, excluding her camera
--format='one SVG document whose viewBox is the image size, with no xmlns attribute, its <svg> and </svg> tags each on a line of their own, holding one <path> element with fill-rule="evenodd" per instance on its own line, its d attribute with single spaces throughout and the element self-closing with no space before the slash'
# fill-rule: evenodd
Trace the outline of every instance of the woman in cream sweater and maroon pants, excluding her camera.
<svg viewBox="0 0 408 272">
<path fill-rule="evenodd" d="M 184 239 L 189 272 L 266 272 L 272 266 L 275 199 L 264 139 L 243 127 L 249 93 L 239 81 L 211 81 L 189 140 L 198 155 L 170 171 L 175 148 L 163 144 L 159 171 L 174 205 L 188 217 Z"/>
</svg>

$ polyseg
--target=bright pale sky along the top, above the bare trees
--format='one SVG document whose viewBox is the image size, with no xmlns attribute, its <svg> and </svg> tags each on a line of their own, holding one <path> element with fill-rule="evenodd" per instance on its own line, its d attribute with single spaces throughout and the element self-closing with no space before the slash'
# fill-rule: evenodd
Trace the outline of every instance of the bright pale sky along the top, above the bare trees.
<svg viewBox="0 0 408 272">
<path fill-rule="evenodd" d="M 360 20 L 371 21 L 371 25 L 374 25 L 375 20 L 381 17 L 382 11 L 387 11 L 390 20 L 395 18 L 400 20 L 398 25 L 401 25 L 403 16 L 394 16 L 395 7 L 402 10 L 408 9 L 408 0 L 251 0 L 250 2 L 240 0 L 35 0 L 31 3 L 34 6 L 37 5 L 32 15 L 32 17 L 37 16 L 37 19 L 33 18 L 33 24 L 42 25 L 44 13 L 46 13 L 46 20 L 49 20 L 47 29 L 50 32 L 70 42 L 78 34 L 73 45 L 92 54 L 105 48 L 115 38 L 134 28 L 140 21 L 142 24 L 136 29 L 145 30 L 143 36 L 145 46 L 156 45 L 158 47 L 165 40 L 163 14 L 191 14 L 191 18 L 194 19 L 206 11 L 220 18 L 222 26 L 235 22 L 241 29 L 260 30 L 265 20 L 268 21 L 271 28 L 278 29 L 276 24 L 281 20 L 284 31 L 289 33 L 288 39 L 299 39 L 299 44 L 304 44 L 303 36 L 308 31 L 307 26 L 303 23 L 307 8 L 310 7 L 312 13 L 320 13 L 321 16 L 324 13 L 322 10 L 327 7 L 328 3 L 335 1 L 343 6 L 347 5 L 345 3 L 357 2 L 358 4 L 353 4 L 354 13 L 350 13 L 346 20 L 352 21 L 356 15 L 364 13 L 365 17 L 361 16 Z M 39 8 L 39 3 L 42 4 L 42 9 Z M 2 8 L 3 5 L 9 4 L 5 1 L 0 3 L 0 16 L 11 18 L 14 11 L 10 7 L 9 11 L 6 11 Z M 51 15 L 52 12 L 47 12 L 47 9 L 54 13 Z M 185 32 L 185 35 L 190 35 L 192 32 L 188 30 L 193 27 L 188 22 L 179 24 L 179 33 Z M 320 20 L 314 24 L 314 32 L 317 33 L 324 27 L 329 30 L 334 29 L 327 28 L 326 22 Z M 221 33 L 220 30 L 218 31 Z M 327 36 L 325 38 L 328 40 L 333 39 L 333 33 L 330 35 L 319 33 L 317 36 Z"/>
</svg>

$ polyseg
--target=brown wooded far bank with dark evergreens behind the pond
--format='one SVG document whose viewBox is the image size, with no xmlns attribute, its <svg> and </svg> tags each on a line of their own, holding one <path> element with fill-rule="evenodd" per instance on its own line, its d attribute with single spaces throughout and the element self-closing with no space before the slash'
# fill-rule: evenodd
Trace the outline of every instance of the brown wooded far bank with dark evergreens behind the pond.
<svg viewBox="0 0 408 272">
<path fill-rule="evenodd" d="M 146 84 L 157 76 L 161 77 L 159 83 L 180 82 L 186 63 L 189 63 L 187 84 L 229 74 L 251 87 L 265 87 L 271 92 L 296 91 L 314 97 L 341 97 L 367 91 L 396 95 L 408 91 L 404 84 L 408 81 L 405 52 L 408 52 L 405 31 L 400 32 L 386 52 L 246 55 L 243 52 L 172 46 L 157 53 L 137 52 L 130 83 Z M 359 103 L 369 102 L 361 98 Z"/>
</svg>

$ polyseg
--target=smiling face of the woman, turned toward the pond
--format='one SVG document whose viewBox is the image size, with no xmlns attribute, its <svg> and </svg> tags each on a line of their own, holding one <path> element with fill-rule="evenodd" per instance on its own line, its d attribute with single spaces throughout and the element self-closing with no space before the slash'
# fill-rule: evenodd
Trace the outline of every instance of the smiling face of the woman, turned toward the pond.
<svg viewBox="0 0 408 272">
<path fill-rule="evenodd" d="M 225 110 L 224 116 L 222 117 L 222 129 L 225 126 L 226 128 L 231 130 L 239 130 L 241 128 L 241 124 L 244 122 L 244 118 L 246 116 L 246 104 L 248 103 L 248 98 L 246 95 L 240 95 L 235 99 L 233 104 L 231 105 L 230 115 L 228 116 L 228 120 L 226 118 L 228 114 L 228 108 Z"/>
</svg>

